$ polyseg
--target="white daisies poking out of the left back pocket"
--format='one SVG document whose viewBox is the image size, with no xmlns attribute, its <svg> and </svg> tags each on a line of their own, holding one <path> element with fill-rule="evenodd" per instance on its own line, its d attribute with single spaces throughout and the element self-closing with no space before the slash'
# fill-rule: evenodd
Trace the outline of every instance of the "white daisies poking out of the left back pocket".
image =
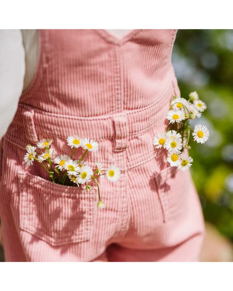
<svg viewBox="0 0 233 291">
<path fill-rule="evenodd" d="M 34 160 L 39 162 L 48 172 L 52 182 L 80 187 L 85 184 L 86 191 L 91 190 L 91 185 L 88 183 L 94 181 L 98 187 L 99 201 L 97 207 L 103 209 L 104 203 L 100 199 L 99 178 L 107 179 L 111 182 L 116 182 L 120 176 L 120 170 L 114 165 L 111 165 L 106 171 L 103 169 L 103 165 L 99 162 L 96 163 L 96 167 L 93 169 L 84 162 L 84 157 L 88 152 L 95 152 L 99 149 L 99 145 L 96 141 L 89 138 L 80 139 L 78 136 L 68 136 L 66 139 L 68 145 L 73 149 L 70 156 L 60 155 L 53 158 L 54 152 L 50 147 L 52 139 L 42 139 L 37 143 L 37 147 L 42 151 L 41 154 L 37 152 L 37 148 L 32 145 L 27 145 L 27 153 L 24 156 L 24 162 L 27 166 L 33 164 Z M 84 154 L 78 160 L 72 159 L 74 152 L 77 148 L 85 150 Z"/>
</svg>

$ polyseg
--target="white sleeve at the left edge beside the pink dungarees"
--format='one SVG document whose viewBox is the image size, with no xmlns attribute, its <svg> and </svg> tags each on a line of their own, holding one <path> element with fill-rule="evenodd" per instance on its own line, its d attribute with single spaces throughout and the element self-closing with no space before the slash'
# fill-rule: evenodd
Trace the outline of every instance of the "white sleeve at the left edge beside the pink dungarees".
<svg viewBox="0 0 233 291">
<path fill-rule="evenodd" d="M 25 73 L 24 46 L 19 29 L 0 30 L 0 139 L 17 110 Z"/>
</svg>

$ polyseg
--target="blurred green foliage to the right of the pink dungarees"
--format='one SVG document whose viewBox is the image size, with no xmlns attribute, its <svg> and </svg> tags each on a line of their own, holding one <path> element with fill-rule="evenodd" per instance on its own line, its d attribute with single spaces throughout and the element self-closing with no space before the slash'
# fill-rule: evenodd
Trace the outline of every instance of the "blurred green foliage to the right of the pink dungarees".
<svg viewBox="0 0 233 291">
<path fill-rule="evenodd" d="M 179 30 L 172 63 L 181 96 L 197 91 L 207 105 L 193 127 L 210 138 L 190 150 L 204 217 L 233 241 L 233 30 Z"/>
</svg>

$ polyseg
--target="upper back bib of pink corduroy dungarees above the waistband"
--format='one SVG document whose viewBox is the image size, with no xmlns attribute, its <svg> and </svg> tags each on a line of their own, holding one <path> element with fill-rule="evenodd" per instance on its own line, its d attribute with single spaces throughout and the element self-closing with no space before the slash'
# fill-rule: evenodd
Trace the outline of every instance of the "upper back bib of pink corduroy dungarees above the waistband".
<svg viewBox="0 0 233 291">
<path fill-rule="evenodd" d="M 90 117 L 140 109 L 160 100 L 174 79 L 176 30 L 39 31 L 38 65 L 20 103 Z"/>
</svg>

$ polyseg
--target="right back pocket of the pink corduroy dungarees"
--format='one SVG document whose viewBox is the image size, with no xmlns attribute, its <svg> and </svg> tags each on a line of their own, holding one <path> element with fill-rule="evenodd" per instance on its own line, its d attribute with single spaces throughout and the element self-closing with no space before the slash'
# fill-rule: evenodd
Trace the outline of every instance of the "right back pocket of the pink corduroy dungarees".
<svg viewBox="0 0 233 291">
<path fill-rule="evenodd" d="M 158 196 L 163 211 L 163 221 L 169 222 L 181 215 L 188 198 L 189 171 L 182 172 L 176 167 L 167 167 L 155 174 Z"/>
</svg>

